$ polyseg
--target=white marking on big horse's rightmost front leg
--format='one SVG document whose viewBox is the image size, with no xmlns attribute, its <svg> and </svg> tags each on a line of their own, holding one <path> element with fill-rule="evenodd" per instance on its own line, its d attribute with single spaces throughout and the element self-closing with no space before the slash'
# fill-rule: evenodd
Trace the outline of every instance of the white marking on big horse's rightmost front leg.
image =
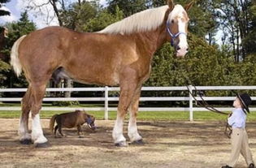
<svg viewBox="0 0 256 168">
<path fill-rule="evenodd" d="M 141 140 L 142 137 L 139 135 L 137 131 L 137 119 L 132 115 L 132 111 L 129 111 L 130 113 L 130 119 L 128 123 L 128 136 L 131 140 L 131 142 L 136 140 Z"/>
</svg>

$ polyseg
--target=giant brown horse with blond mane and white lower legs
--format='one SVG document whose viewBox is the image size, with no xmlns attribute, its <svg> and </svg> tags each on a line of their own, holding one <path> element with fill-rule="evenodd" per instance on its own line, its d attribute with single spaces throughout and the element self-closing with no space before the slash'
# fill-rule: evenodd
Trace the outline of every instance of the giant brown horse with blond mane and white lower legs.
<svg viewBox="0 0 256 168">
<path fill-rule="evenodd" d="M 20 37 L 11 49 L 11 65 L 28 80 L 22 99 L 20 142 L 45 146 L 39 112 L 51 75 L 59 71 L 84 84 L 119 85 L 119 105 L 112 132 L 115 145 L 127 145 L 123 135 L 124 116 L 129 112 L 128 137 L 141 143 L 137 131 L 137 111 L 141 85 L 150 77 L 154 52 L 171 41 L 177 57 L 188 52 L 187 12 L 192 6 L 168 5 L 141 11 L 111 24 L 100 32 L 74 32 L 49 27 Z M 32 113 L 32 134 L 28 133 L 28 114 Z"/>
</svg>

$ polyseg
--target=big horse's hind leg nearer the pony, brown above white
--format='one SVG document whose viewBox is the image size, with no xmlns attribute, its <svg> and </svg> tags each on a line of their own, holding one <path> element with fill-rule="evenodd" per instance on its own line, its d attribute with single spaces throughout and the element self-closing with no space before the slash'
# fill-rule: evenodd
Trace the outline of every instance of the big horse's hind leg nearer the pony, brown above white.
<svg viewBox="0 0 256 168">
<path fill-rule="evenodd" d="M 31 108 L 32 112 L 32 140 L 36 147 L 46 147 L 47 139 L 43 135 L 43 131 L 40 123 L 40 110 L 41 102 L 46 93 L 46 82 L 45 83 L 33 83 L 32 84 L 33 93 L 33 106 Z"/>
</svg>

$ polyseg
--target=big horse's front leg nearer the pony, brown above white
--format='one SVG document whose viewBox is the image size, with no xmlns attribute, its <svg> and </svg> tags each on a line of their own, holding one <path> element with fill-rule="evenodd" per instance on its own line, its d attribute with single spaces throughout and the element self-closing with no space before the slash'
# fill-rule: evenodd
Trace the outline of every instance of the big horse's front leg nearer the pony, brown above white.
<svg viewBox="0 0 256 168">
<path fill-rule="evenodd" d="M 112 132 L 115 146 L 127 146 L 126 139 L 123 135 L 124 117 L 128 111 L 128 107 L 131 104 L 136 88 L 137 82 L 131 78 L 130 80 L 127 79 L 120 84 L 119 105 L 115 120 L 115 127 Z"/>
</svg>

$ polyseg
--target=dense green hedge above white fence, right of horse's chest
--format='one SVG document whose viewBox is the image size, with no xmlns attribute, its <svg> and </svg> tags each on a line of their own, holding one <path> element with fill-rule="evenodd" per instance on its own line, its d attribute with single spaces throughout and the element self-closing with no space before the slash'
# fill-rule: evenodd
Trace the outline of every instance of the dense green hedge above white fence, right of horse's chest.
<svg viewBox="0 0 256 168">
<path fill-rule="evenodd" d="M 234 62 L 230 53 L 221 52 L 203 38 L 189 36 L 189 54 L 184 59 L 173 58 L 169 44 L 154 55 L 152 73 L 147 86 L 249 85 L 256 83 L 256 58 Z M 188 79 L 189 80 L 188 80 Z"/>
</svg>

